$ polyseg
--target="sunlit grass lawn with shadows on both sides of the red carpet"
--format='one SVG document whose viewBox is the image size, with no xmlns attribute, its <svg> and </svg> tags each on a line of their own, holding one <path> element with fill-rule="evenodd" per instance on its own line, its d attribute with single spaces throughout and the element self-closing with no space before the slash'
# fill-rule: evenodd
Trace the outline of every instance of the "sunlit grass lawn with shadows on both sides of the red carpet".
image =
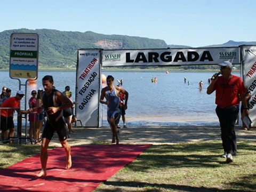
<svg viewBox="0 0 256 192">
<path fill-rule="evenodd" d="M 256 143 L 238 141 L 227 164 L 221 141 L 153 145 L 95 191 L 256 191 Z M 40 146 L 0 145 L 0 169 Z"/>
</svg>

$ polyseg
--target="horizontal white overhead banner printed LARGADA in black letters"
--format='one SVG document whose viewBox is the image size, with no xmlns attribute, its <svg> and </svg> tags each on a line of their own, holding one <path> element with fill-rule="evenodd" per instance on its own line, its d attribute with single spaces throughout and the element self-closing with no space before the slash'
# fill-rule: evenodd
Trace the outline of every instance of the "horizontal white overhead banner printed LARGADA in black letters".
<svg viewBox="0 0 256 192">
<path fill-rule="evenodd" d="M 102 66 L 214 65 L 240 63 L 239 47 L 156 50 L 103 50 Z"/>
</svg>

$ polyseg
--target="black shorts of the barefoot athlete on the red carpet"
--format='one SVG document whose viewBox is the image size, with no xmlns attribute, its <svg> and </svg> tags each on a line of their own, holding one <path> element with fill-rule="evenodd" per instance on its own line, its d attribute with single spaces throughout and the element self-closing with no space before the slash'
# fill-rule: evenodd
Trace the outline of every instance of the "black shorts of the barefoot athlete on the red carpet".
<svg viewBox="0 0 256 192">
<path fill-rule="evenodd" d="M 65 141 L 67 139 L 67 125 L 64 118 L 61 117 L 57 122 L 50 123 L 47 119 L 42 138 L 51 140 L 54 132 L 57 132 L 60 141 Z"/>
</svg>

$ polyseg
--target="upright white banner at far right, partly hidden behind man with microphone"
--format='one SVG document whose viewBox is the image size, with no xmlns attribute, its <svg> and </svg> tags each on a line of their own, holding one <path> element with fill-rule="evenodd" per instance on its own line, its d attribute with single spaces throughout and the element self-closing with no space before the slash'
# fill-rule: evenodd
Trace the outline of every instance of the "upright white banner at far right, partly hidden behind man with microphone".
<svg viewBox="0 0 256 192">
<path fill-rule="evenodd" d="M 243 81 L 244 85 L 251 93 L 249 100 L 249 117 L 252 120 L 252 126 L 256 121 L 256 46 L 242 46 L 243 58 Z"/>
</svg>

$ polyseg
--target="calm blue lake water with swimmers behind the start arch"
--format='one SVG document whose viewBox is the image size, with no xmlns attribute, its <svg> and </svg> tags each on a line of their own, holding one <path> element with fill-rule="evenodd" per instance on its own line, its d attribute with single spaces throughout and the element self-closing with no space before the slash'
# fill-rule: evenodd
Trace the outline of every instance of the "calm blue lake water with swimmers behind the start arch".
<svg viewBox="0 0 256 192">
<path fill-rule="evenodd" d="M 19 89 L 19 81 L 9 77 L 9 71 L 1 71 L 1 89 L 3 86 L 12 90 L 12 96 Z M 128 109 L 126 110 L 127 126 L 187 126 L 187 125 L 219 125 L 215 115 L 215 93 L 206 94 L 207 79 L 215 72 L 184 72 L 165 71 L 102 71 L 102 74 L 113 75 L 116 79 L 123 78 L 123 87 L 129 92 Z M 239 73 L 233 73 L 239 76 Z M 27 103 L 32 90 L 43 89 L 41 84 L 45 75 L 52 75 L 56 89 L 75 93 L 75 71 L 39 71 L 38 80 L 27 86 Z M 151 78 L 157 77 L 157 83 L 151 83 Z M 190 82 L 184 83 L 184 77 Z M 203 81 L 203 89 L 198 83 Z M 22 84 L 25 84 L 23 79 Z M 22 90 L 25 90 L 22 87 Z M 73 100 L 75 94 L 73 94 Z M 21 108 L 25 106 L 22 99 Z M 27 104 L 28 106 L 28 104 Z M 24 108 L 24 107 L 23 107 Z M 103 125 L 106 121 L 106 105 L 103 105 Z M 121 123 L 122 125 L 122 123 Z"/>
</svg>

